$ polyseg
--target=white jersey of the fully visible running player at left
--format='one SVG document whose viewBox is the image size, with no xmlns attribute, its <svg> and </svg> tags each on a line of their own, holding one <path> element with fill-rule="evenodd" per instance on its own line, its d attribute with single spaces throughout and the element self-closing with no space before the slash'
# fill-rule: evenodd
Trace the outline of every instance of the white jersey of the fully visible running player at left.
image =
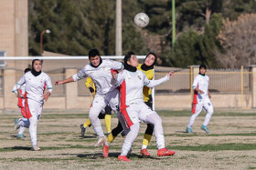
<svg viewBox="0 0 256 170">
<path fill-rule="evenodd" d="M 21 85 L 26 84 L 25 91 L 27 92 L 27 98 L 35 100 L 37 102 L 43 103 L 43 95 L 45 85 L 49 93 L 52 93 L 52 85 L 50 77 L 42 72 L 40 75 L 32 75 L 31 72 L 27 72 L 23 75 L 20 80 L 17 82 L 17 89 Z"/>
</svg>

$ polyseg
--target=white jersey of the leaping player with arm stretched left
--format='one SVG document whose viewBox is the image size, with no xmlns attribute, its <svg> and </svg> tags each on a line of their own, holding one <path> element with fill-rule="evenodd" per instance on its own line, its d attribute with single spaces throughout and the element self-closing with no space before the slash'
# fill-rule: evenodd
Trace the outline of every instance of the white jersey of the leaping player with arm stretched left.
<svg viewBox="0 0 256 170">
<path fill-rule="evenodd" d="M 123 69 L 123 64 L 113 60 L 102 60 L 101 65 L 93 67 L 91 64 L 85 65 L 78 74 L 73 75 L 74 81 L 78 81 L 87 76 L 91 76 L 92 82 L 96 86 L 96 94 L 105 95 L 115 89 L 112 81 L 112 70 Z"/>
</svg>

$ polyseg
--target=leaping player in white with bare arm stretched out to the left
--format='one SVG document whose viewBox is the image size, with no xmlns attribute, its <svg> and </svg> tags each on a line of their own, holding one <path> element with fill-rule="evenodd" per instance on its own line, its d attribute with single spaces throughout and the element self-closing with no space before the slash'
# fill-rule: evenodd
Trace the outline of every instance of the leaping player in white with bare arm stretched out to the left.
<svg viewBox="0 0 256 170">
<path fill-rule="evenodd" d="M 100 52 L 97 49 L 91 49 L 89 52 L 89 60 L 90 64 L 85 65 L 78 74 L 72 75 L 66 80 L 57 81 L 55 85 L 63 85 L 91 76 L 96 86 L 96 95 L 92 101 L 89 118 L 96 135 L 98 135 L 98 141 L 94 145 L 97 147 L 105 141 L 101 121 L 98 117 L 101 110 L 104 109 L 106 105 L 110 105 L 118 118 L 122 119 L 118 111 L 119 91 L 116 89 L 115 85 L 113 85 L 112 70 L 123 69 L 123 64 L 113 60 L 102 60 Z"/>
</svg>

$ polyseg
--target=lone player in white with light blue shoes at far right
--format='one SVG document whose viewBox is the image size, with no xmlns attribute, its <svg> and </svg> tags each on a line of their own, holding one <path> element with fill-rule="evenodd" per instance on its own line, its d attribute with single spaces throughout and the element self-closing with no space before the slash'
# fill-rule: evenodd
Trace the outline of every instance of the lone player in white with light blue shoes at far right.
<svg viewBox="0 0 256 170">
<path fill-rule="evenodd" d="M 204 130 L 206 133 L 210 133 L 208 130 L 208 123 L 211 118 L 211 115 L 213 115 L 213 106 L 210 102 L 210 94 L 208 92 L 208 83 L 209 78 L 208 75 L 206 75 L 207 72 L 207 66 L 206 65 L 200 65 L 199 66 L 199 75 L 196 76 L 193 82 L 193 89 L 194 89 L 194 99 L 193 99 L 193 105 L 192 105 L 192 113 L 189 123 L 187 125 L 187 133 L 193 133 L 192 131 L 192 125 L 194 124 L 197 115 L 199 115 L 204 109 L 207 112 L 207 115 L 205 117 L 205 121 L 203 125 L 201 125 L 201 129 Z"/>
</svg>

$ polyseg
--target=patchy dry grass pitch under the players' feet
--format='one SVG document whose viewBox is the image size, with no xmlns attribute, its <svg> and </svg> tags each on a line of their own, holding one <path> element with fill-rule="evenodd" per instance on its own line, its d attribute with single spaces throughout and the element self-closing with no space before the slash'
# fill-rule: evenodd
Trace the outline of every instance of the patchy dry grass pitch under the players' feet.
<svg viewBox="0 0 256 170">
<path fill-rule="evenodd" d="M 139 155 L 145 125 L 133 143 L 129 163 L 117 161 L 123 137 L 117 136 L 110 147 L 110 156 L 101 155 L 101 147 L 93 147 L 96 136 L 90 127 L 86 137 L 80 137 L 80 124 L 87 112 L 47 112 L 37 127 L 40 152 L 31 151 L 26 130 L 25 139 L 16 139 L 14 119 L 19 115 L 0 114 L 0 169 L 256 169 L 256 114 L 253 110 L 217 111 L 208 125 L 211 134 L 200 130 L 205 113 L 197 117 L 194 133 L 185 129 L 188 111 L 159 111 L 163 119 L 165 145 L 176 151 L 171 157 L 158 157 L 155 137 L 148 151 L 151 157 Z M 101 120 L 103 130 L 104 121 Z M 112 115 L 112 127 L 117 124 Z"/>
</svg>

